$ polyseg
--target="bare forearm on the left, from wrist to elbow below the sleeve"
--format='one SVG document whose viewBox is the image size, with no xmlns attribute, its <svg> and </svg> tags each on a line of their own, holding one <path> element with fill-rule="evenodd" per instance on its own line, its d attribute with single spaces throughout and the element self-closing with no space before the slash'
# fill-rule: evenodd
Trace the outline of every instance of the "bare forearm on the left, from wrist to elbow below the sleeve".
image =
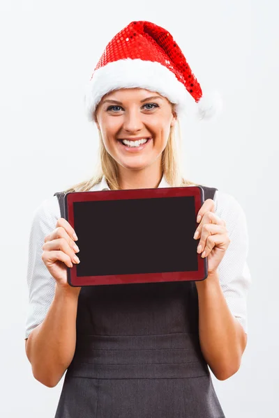
<svg viewBox="0 0 279 418">
<path fill-rule="evenodd" d="M 26 340 L 34 378 L 54 387 L 73 359 L 78 296 L 56 285 L 54 299 L 43 320 Z"/>
</svg>

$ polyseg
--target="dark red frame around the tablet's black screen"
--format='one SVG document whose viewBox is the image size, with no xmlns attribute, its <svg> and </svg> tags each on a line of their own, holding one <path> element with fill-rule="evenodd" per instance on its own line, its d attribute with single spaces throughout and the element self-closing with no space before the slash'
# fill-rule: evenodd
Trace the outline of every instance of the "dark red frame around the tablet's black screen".
<svg viewBox="0 0 279 418">
<path fill-rule="evenodd" d="M 193 196 L 195 199 L 195 218 L 197 212 L 204 203 L 204 190 L 200 186 L 190 187 L 160 187 L 156 189 L 126 189 L 106 190 L 98 192 L 70 192 L 64 196 L 65 218 L 75 229 L 73 205 L 75 202 L 86 201 L 114 201 L 119 199 L 160 199 L 160 197 Z M 196 228 L 198 224 L 196 222 Z M 78 237 L 78 231 L 77 237 Z M 194 238 L 193 238 L 194 240 Z M 199 240 L 196 240 L 197 245 Z M 78 245 L 78 241 L 77 241 Z M 78 254 L 82 263 L 82 254 Z M 73 263 L 73 268 L 68 268 L 67 277 L 70 286 L 95 286 L 109 284 L 134 284 L 151 283 L 158 281 L 197 281 L 207 277 L 207 258 L 197 254 L 197 266 L 195 271 L 160 272 L 144 274 L 110 274 L 98 276 L 77 276 L 78 265 Z"/>
</svg>

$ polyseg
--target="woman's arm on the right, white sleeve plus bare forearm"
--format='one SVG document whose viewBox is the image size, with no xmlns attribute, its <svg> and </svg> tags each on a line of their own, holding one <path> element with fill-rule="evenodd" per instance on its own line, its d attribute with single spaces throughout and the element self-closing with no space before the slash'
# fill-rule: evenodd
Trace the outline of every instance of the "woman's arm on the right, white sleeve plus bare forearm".
<svg viewBox="0 0 279 418">
<path fill-rule="evenodd" d="M 214 216 L 204 213 L 209 224 L 202 226 L 202 229 L 207 229 L 206 235 L 209 231 L 217 234 L 209 233 L 208 238 L 208 245 L 211 247 L 215 242 L 216 247 L 209 253 L 207 250 L 209 276 L 204 281 L 196 281 L 196 288 L 202 353 L 216 378 L 225 380 L 239 370 L 247 344 L 246 298 L 250 272 L 246 263 L 248 231 L 245 214 L 229 194 L 218 192 L 217 203 L 216 215 L 227 226 L 225 235 L 229 238 L 229 246 L 223 245 L 227 238 L 223 235 L 222 222 L 216 219 L 219 224 L 216 225 Z M 225 247 L 224 254 L 222 251 Z M 218 256 L 222 257 L 221 261 L 218 261 Z"/>
</svg>

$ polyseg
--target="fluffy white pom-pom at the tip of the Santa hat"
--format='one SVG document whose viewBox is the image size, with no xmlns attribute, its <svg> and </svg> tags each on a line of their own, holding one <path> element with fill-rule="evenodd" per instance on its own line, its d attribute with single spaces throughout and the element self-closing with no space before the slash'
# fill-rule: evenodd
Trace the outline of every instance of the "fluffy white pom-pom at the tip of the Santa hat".
<svg viewBox="0 0 279 418">
<path fill-rule="evenodd" d="M 223 109 L 223 100 L 218 91 L 210 91 L 202 94 L 197 102 L 197 118 L 199 121 L 213 121 L 220 115 Z"/>
</svg>

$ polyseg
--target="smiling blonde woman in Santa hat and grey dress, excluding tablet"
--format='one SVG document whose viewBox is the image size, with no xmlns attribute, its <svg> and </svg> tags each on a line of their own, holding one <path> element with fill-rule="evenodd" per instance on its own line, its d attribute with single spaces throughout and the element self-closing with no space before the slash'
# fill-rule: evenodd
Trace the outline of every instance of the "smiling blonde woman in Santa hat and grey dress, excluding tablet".
<svg viewBox="0 0 279 418">
<path fill-rule="evenodd" d="M 98 171 L 66 192 L 194 185 L 181 177 L 174 139 L 189 93 L 199 116 L 212 116 L 170 33 L 150 22 L 126 26 L 86 94 L 100 134 Z M 71 287 L 66 268 L 80 262 L 79 249 L 60 194 L 36 211 L 26 350 L 43 385 L 54 387 L 67 369 L 56 418 L 225 417 L 209 367 L 229 378 L 246 348 L 248 236 L 239 203 L 204 190 L 211 199 L 194 238 L 209 274 L 200 282 Z"/>
</svg>

